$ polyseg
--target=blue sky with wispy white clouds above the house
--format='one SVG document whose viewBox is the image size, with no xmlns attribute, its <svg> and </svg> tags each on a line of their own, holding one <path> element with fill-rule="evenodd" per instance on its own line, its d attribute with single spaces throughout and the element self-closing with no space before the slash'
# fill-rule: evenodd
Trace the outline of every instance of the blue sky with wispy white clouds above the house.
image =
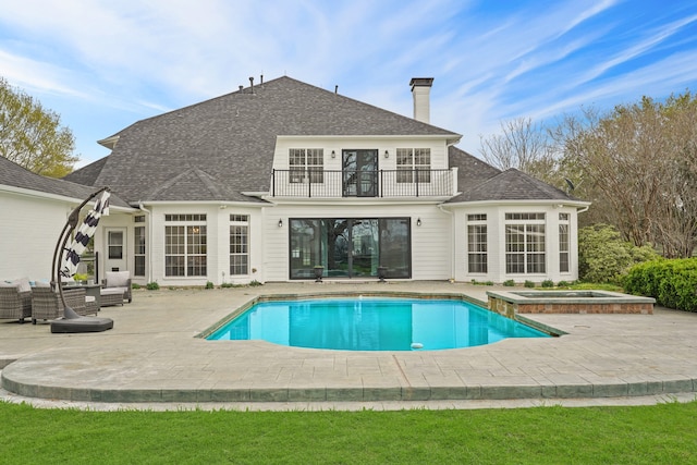
<svg viewBox="0 0 697 465">
<path fill-rule="evenodd" d="M 261 74 L 408 117 L 435 77 L 431 123 L 478 155 L 501 121 L 697 91 L 697 2 L 0 0 L 0 76 L 61 115 L 78 166 Z"/>
</svg>

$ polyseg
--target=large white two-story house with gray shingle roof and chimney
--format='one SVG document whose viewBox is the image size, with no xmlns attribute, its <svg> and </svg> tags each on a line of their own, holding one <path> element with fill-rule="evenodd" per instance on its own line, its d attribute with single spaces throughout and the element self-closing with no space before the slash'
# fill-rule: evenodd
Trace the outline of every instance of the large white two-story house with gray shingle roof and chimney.
<svg viewBox="0 0 697 465">
<path fill-rule="evenodd" d="M 111 154 L 65 179 L 133 210 L 102 219 L 101 270 L 135 282 L 314 277 L 493 281 L 577 278 L 588 203 L 455 147 L 414 118 L 291 77 L 240 87 L 100 140 Z"/>
</svg>

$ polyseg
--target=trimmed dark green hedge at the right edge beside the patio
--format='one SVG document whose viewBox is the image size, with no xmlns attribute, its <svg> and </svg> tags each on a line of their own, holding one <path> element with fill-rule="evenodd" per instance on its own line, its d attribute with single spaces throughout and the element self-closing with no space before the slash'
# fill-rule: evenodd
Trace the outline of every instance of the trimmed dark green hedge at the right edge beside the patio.
<svg viewBox="0 0 697 465">
<path fill-rule="evenodd" d="M 652 260 L 629 269 L 624 291 L 668 308 L 697 311 L 697 258 Z"/>
</svg>

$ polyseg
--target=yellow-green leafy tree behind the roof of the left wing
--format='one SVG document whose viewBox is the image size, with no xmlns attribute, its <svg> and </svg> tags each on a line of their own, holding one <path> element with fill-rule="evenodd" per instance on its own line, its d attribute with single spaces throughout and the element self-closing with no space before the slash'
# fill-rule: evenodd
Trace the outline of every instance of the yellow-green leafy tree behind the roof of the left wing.
<svg viewBox="0 0 697 465">
<path fill-rule="evenodd" d="M 62 178 L 78 160 L 75 138 L 60 117 L 0 77 L 0 156 L 51 178 Z"/>
</svg>

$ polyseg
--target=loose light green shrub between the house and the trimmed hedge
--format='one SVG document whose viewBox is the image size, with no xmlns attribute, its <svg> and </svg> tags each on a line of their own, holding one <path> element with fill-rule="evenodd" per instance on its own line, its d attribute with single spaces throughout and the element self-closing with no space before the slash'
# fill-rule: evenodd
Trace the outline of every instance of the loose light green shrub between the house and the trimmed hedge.
<svg viewBox="0 0 697 465">
<path fill-rule="evenodd" d="M 578 230 L 578 277 L 596 283 L 620 283 L 628 269 L 660 256 L 650 245 L 623 241 L 616 228 L 594 224 Z"/>
</svg>

